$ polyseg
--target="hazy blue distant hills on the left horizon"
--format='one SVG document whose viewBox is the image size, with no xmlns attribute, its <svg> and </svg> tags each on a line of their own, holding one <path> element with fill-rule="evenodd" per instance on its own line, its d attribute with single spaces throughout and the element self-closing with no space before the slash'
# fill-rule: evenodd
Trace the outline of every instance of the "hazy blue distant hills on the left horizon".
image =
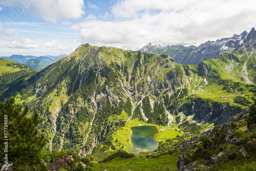
<svg viewBox="0 0 256 171">
<path fill-rule="evenodd" d="M 54 63 L 56 60 L 67 56 L 66 54 L 58 55 L 58 56 L 51 56 L 51 55 L 46 55 L 46 56 L 23 56 L 23 55 L 11 55 L 11 56 L 4 56 L 0 58 L 5 58 L 14 62 L 22 63 L 24 65 L 27 65 L 28 67 L 31 67 L 35 70 L 43 70 L 47 66 L 51 65 Z"/>
</svg>

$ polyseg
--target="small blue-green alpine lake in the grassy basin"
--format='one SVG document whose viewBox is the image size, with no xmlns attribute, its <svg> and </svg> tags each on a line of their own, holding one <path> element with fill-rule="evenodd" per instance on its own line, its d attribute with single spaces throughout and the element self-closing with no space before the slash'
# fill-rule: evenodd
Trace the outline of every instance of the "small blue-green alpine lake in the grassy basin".
<svg viewBox="0 0 256 171">
<path fill-rule="evenodd" d="M 156 126 L 135 126 L 131 127 L 131 141 L 133 146 L 129 149 L 131 153 L 154 151 L 158 142 L 155 139 L 158 134 Z"/>
</svg>

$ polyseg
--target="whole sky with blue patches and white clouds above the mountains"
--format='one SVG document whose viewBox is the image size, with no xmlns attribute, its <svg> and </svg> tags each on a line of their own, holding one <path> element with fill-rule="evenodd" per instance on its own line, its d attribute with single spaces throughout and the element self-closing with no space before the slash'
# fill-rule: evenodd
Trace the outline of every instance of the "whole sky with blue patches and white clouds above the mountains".
<svg viewBox="0 0 256 171">
<path fill-rule="evenodd" d="M 0 0 L 0 56 L 200 45 L 256 27 L 254 0 Z"/>
</svg>

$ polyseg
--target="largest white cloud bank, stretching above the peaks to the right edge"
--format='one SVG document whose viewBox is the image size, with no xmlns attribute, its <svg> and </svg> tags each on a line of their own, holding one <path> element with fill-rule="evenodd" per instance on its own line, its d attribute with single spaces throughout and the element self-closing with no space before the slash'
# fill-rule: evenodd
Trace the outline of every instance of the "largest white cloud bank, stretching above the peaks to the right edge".
<svg viewBox="0 0 256 171">
<path fill-rule="evenodd" d="M 95 46 L 136 50 L 150 41 L 200 45 L 250 31 L 256 26 L 251 17 L 255 6 L 254 0 L 125 0 L 112 7 L 111 22 L 92 18 L 71 28 L 80 29 L 82 42 Z"/>
</svg>

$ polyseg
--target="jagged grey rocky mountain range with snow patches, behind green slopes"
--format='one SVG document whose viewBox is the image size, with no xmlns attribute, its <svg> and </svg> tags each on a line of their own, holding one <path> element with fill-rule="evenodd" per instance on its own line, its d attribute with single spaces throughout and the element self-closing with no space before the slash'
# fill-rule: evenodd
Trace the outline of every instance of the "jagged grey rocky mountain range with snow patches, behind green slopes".
<svg viewBox="0 0 256 171">
<path fill-rule="evenodd" d="M 150 42 L 139 51 L 167 54 L 173 57 L 177 63 L 196 65 L 202 60 L 217 59 L 224 52 L 238 51 L 241 47 L 256 48 L 256 31 L 254 28 L 249 33 L 244 31 L 240 35 L 234 34 L 229 38 L 207 41 L 198 47 L 193 45 L 188 47 L 183 45 L 158 45 Z"/>
</svg>

